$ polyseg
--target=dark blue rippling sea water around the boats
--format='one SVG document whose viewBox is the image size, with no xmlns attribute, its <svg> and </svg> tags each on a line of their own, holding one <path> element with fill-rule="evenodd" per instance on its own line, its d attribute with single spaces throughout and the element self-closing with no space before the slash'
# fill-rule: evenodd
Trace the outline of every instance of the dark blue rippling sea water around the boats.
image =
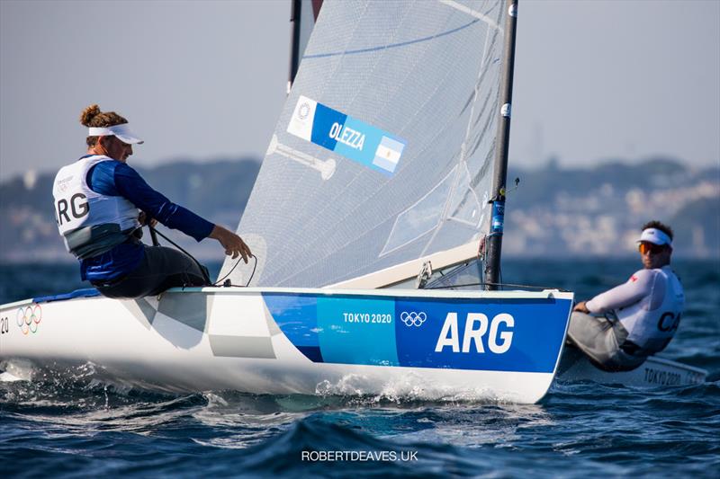
<svg viewBox="0 0 720 479">
<path fill-rule="evenodd" d="M 718 477 L 720 261 L 673 266 L 687 306 L 662 356 L 708 369 L 703 385 L 555 384 L 533 405 L 354 395 L 352 378 L 321 396 L 159 395 L 104 385 L 88 366 L 0 384 L 0 476 Z M 639 267 L 506 260 L 503 279 L 583 299 Z M 77 276 L 2 265 L 0 303 L 86 287 Z"/>
</svg>

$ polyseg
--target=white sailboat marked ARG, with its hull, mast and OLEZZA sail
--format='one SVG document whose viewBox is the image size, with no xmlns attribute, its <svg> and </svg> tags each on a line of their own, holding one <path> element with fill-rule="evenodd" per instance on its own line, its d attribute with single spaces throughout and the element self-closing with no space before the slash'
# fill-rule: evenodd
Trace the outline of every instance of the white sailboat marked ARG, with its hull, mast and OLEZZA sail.
<svg viewBox="0 0 720 479">
<path fill-rule="evenodd" d="M 238 226 L 254 267 L 228 259 L 224 286 L 159 297 L 0 306 L 5 377 L 30 361 L 168 392 L 546 394 L 572 292 L 499 288 L 517 0 L 294 12 L 309 8 Z"/>
</svg>

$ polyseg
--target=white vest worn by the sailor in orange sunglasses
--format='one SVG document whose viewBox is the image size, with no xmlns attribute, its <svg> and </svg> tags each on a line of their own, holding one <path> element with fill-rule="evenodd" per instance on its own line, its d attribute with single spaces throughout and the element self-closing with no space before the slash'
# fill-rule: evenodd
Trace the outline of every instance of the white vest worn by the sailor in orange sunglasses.
<svg viewBox="0 0 720 479">
<path fill-rule="evenodd" d="M 665 348 L 678 330 L 685 307 L 685 294 L 680 279 L 669 265 L 653 271 L 656 273 L 653 289 L 664 288 L 662 304 L 650 309 L 653 295 L 649 295 L 634 305 L 618 309 L 616 314 L 627 330 L 627 341 L 635 342 L 644 350 L 658 352 Z"/>
</svg>

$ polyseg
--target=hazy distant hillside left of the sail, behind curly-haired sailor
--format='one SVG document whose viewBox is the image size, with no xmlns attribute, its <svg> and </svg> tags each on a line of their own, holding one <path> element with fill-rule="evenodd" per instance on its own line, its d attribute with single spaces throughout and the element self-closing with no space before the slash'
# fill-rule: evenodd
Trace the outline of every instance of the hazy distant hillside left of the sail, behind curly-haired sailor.
<svg viewBox="0 0 720 479">
<path fill-rule="evenodd" d="M 260 169 L 254 158 L 218 159 L 193 163 L 178 159 L 155 168 L 133 164 L 157 191 L 190 208 L 213 223 L 235 229 Z M 0 183 L 0 261 L 67 260 L 58 235 L 52 204 L 55 173 L 42 173 L 28 184 L 21 177 Z M 221 259 L 215 242 L 197 244 L 175 232 L 168 233 L 183 247 L 200 256 Z"/>
</svg>

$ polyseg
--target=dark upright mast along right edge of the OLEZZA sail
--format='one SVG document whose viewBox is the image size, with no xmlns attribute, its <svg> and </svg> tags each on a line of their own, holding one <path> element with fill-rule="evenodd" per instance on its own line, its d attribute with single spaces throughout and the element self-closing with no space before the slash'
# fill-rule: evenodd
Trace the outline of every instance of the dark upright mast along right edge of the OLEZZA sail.
<svg viewBox="0 0 720 479">
<path fill-rule="evenodd" d="M 507 0 L 508 16 L 505 19 L 505 45 L 503 48 L 502 75 L 500 79 L 500 128 L 495 150 L 495 168 L 492 177 L 492 218 L 490 233 L 485 243 L 486 289 L 497 289 L 500 283 L 500 251 L 505 221 L 505 192 L 508 180 L 508 149 L 510 142 L 510 112 L 512 105 L 512 80 L 515 67 L 515 33 L 518 23 L 518 0 Z"/>
</svg>

